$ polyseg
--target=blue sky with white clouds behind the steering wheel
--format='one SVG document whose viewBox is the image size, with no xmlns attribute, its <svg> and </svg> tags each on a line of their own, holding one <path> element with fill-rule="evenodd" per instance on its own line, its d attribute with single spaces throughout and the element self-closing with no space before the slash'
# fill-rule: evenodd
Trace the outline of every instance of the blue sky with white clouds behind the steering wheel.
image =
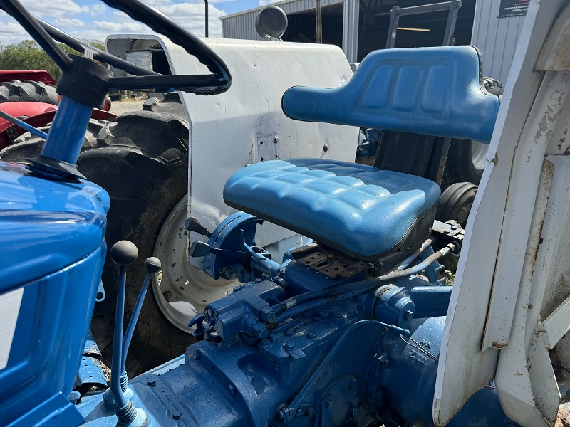
<svg viewBox="0 0 570 427">
<path fill-rule="evenodd" d="M 150 28 L 96 0 L 20 0 L 32 14 L 77 38 L 104 41 L 110 34 L 152 33 Z M 118 0 L 120 1 L 120 0 Z M 204 36 L 204 0 L 144 0 L 197 36 Z M 209 0 L 209 36 L 222 37 L 220 16 L 275 3 L 276 0 Z M 0 43 L 31 38 L 0 11 Z"/>
</svg>

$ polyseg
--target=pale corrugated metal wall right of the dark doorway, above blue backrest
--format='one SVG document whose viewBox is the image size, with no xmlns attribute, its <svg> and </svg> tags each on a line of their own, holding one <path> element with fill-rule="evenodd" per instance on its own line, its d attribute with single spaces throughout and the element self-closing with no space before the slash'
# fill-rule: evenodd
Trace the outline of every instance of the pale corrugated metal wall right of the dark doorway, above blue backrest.
<svg viewBox="0 0 570 427">
<path fill-rule="evenodd" d="M 483 53 L 483 74 L 505 83 L 524 16 L 497 19 L 501 0 L 477 0 L 471 43 Z"/>
</svg>

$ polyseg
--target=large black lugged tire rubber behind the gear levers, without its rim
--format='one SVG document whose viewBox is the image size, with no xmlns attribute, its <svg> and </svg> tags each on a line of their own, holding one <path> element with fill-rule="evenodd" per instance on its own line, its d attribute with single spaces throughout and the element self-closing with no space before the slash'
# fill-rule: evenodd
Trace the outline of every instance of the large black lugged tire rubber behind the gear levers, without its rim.
<svg viewBox="0 0 570 427">
<path fill-rule="evenodd" d="M 133 312 L 145 278 L 145 260 L 152 256 L 162 223 L 188 188 L 188 122 L 177 94 L 165 100 L 147 100 L 142 110 L 127 112 L 95 129 L 91 121 L 78 158 L 78 170 L 108 191 L 110 209 L 105 233 L 108 251 L 114 243 L 129 240 L 139 255 L 127 273 L 125 326 Z M 0 153 L 16 162 L 34 157 L 43 140 L 22 135 L 21 143 Z M 8 155 L 9 154 L 9 155 Z M 109 255 L 103 268 L 106 297 L 95 304 L 91 332 L 102 359 L 110 366 L 117 300 L 118 268 Z M 162 315 L 152 291 L 147 293 L 127 359 L 129 376 L 140 374 L 185 352 L 194 342 Z"/>
</svg>

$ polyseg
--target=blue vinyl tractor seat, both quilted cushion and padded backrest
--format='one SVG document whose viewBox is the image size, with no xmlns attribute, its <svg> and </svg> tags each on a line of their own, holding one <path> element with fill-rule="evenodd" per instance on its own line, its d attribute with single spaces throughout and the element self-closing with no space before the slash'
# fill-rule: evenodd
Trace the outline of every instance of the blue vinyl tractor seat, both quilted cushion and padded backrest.
<svg viewBox="0 0 570 427">
<path fill-rule="evenodd" d="M 375 51 L 346 85 L 290 88 L 281 103 L 295 120 L 489 142 L 499 97 L 481 70 L 473 46 Z M 429 179 L 328 159 L 252 164 L 224 187 L 229 206 L 361 260 L 418 248 L 439 196 Z"/>
</svg>

